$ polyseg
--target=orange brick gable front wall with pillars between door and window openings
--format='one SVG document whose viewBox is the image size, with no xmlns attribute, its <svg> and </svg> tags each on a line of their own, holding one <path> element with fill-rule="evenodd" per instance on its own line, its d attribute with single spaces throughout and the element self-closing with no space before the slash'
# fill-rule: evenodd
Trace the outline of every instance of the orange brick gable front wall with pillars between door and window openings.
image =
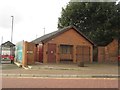
<svg viewBox="0 0 120 90">
<path fill-rule="evenodd" d="M 48 49 L 48 43 L 55 43 L 57 45 L 56 47 L 56 62 L 60 61 L 59 57 L 59 46 L 60 44 L 65 44 L 65 45 L 73 45 L 73 62 L 76 63 L 76 46 L 81 45 L 81 46 L 89 46 L 90 47 L 90 62 L 93 61 L 93 45 L 87 41 L 83 36 L 78 34 L 74 29 L 70 29 L 57 37 L 49 40 L 46 42 L 43 46 L 43 62 L 47 63 L 47 49 Z"/>
</svg>

